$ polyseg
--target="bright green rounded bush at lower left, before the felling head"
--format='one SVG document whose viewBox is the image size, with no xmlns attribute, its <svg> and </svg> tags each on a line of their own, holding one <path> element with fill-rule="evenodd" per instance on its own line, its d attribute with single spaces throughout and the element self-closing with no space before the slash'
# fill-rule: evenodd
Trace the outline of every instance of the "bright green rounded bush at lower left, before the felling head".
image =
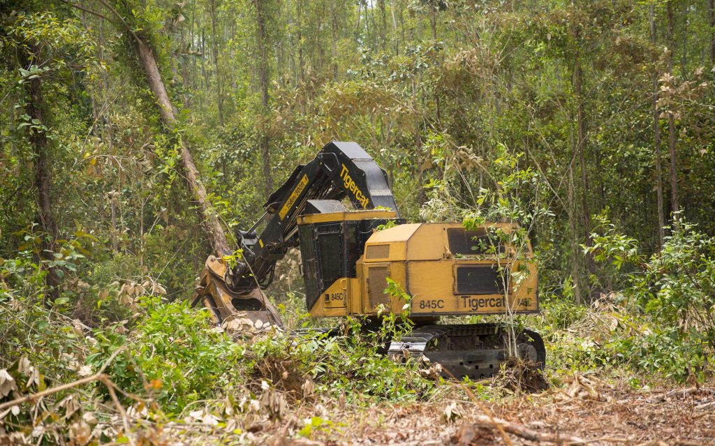
<svg viewBox="0 0 715 446">
<path fill-rule="evenodd" d="M 102 367 L 125 347 L 127 353 L 107 369 L 110 378 L 128 392 L 151 391 L 167 412 L 230 387 L 245 347 L 213 329 L 207 310 L 188 302 L 162 303 L 157 297 L 146 297 L 140 305 L 144 314 L 131 335 L 122 333 L 121 324 L 95 332 L 98 342 L 87 357 L 89 365 Z"/>
</svg>

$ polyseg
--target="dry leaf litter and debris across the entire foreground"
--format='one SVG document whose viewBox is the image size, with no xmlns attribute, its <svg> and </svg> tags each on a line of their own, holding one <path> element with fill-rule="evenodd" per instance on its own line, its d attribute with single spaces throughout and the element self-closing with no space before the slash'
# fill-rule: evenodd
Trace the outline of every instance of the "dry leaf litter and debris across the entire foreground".
<svg viewBox="0 0 715 446">
<path fill-rule="evenodd" d="M 285 387 L 263 381 L 240 400 L 205 402 L 175 420 L 147 413 L 143 403 L 124 415 L 109 406 L 89 412 L 79 404 L 79 388 L 54 410 L 77 445 L 109 438 L 140 445 L 715 445 L 715 387 L 633 390 L 574 374 L 529 393 L 511 389 L 509 380 L 528 373 L 514 368 L 490 387 L 465 392 L 465 384 L 445 382 L 440 397 L 409 405 L 351 406 L 315 395 L 310 381 Z M 475 388 L 501 396 L 477 400 Z M 44 412 L 36 412 L 24 436 L 0 432 L 0 444 L 34 444 L 51 430 Z"/>
</svg>

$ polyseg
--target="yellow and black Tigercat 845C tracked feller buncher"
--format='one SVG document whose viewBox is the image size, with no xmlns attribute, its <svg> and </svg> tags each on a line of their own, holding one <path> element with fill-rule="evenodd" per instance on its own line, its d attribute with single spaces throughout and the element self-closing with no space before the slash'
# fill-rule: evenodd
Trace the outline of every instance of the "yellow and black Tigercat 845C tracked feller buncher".
<svg viewBox="0 0 715 446">
<path fill-rule="evenodd" d="M 345 206 L 347 201 L 354 209 Z M 194 305 L 209 308 L 224 327 L 282 326 L 262 289 L 290 247 L 300 247 L 305 304 L 313 317 L 378 319 L 388 309 L 403 312 L 404 297 L 385 291 L 390 278 L 411 296 L 409 317 L 415 326 L 402 339 L 390 340 L 389 352 L 425 355 L 455 377 L 480 379 L 498 372 L 507 356 L 506 330 L 497 324 L 438 324 L 440 317 L 538 311 L 531 248 L 521 260 L 510 259 L 508 246 L 500 247 L 500 256 L 478 255 L 485 254 L 479 241 L 486 227 L 405 224 L 385 171 L 354 142 L 327 144 L 311 162 L 296 167 L 264 207 L 261 219 L 237 234 L 242 258 L 209 257 L 202 272 Z M 500 227 L 507 233 L 512 229 Z M 504 284 L 513 281 L 502 274 L 517 269 L 531 274 L 505 292 Z M 536 332 L 518 333 L 516 350 L 545 364 L 546 350 Z"/>
</svg>

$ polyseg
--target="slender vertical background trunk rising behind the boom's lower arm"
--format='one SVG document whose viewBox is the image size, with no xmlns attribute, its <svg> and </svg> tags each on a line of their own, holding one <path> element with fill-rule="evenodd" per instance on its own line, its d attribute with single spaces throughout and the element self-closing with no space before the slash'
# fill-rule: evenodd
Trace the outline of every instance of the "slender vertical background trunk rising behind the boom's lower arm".
<svg viewBox="0 0 715 446">
<path fill-rule="evenodd" d="M 273 192 L 273 176 L 270 170 L 270 139 L 268 138 L 268 42 L 266 36 L 266 11 L 263 0 L 254 0 L 256 6 L 256 31 L 258 41 L 258 83 L 261 91 L 261 109 L 263 114 L 259 146 L 263 162 L 263 184 L 266 197 Z"/>
</svg>

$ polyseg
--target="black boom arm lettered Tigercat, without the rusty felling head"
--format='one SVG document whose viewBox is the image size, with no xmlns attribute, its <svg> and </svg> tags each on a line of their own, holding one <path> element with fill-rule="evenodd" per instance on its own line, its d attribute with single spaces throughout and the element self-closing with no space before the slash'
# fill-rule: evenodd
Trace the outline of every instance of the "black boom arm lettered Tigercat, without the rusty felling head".
<svg viewBox="0 0 715 446">
<path fill-rule="evenodd" d="M 355 142 L 331 142 L 311 162 L 296 167 L 287 182 L 268 197 L 263 217 L 247 232 L 239 233 L 246 263 L 235 270 L 235 287 L 270 284 L 275 263 L 289 247 L 297 245 L 297 217 L 308 200 L 345 197 L 356 209 L 385 207 L 398 212 L 387 174 L 375 160 Z M 262 222 L 265 228 L 258 235 L 255 228 Z"/>
</svg>

